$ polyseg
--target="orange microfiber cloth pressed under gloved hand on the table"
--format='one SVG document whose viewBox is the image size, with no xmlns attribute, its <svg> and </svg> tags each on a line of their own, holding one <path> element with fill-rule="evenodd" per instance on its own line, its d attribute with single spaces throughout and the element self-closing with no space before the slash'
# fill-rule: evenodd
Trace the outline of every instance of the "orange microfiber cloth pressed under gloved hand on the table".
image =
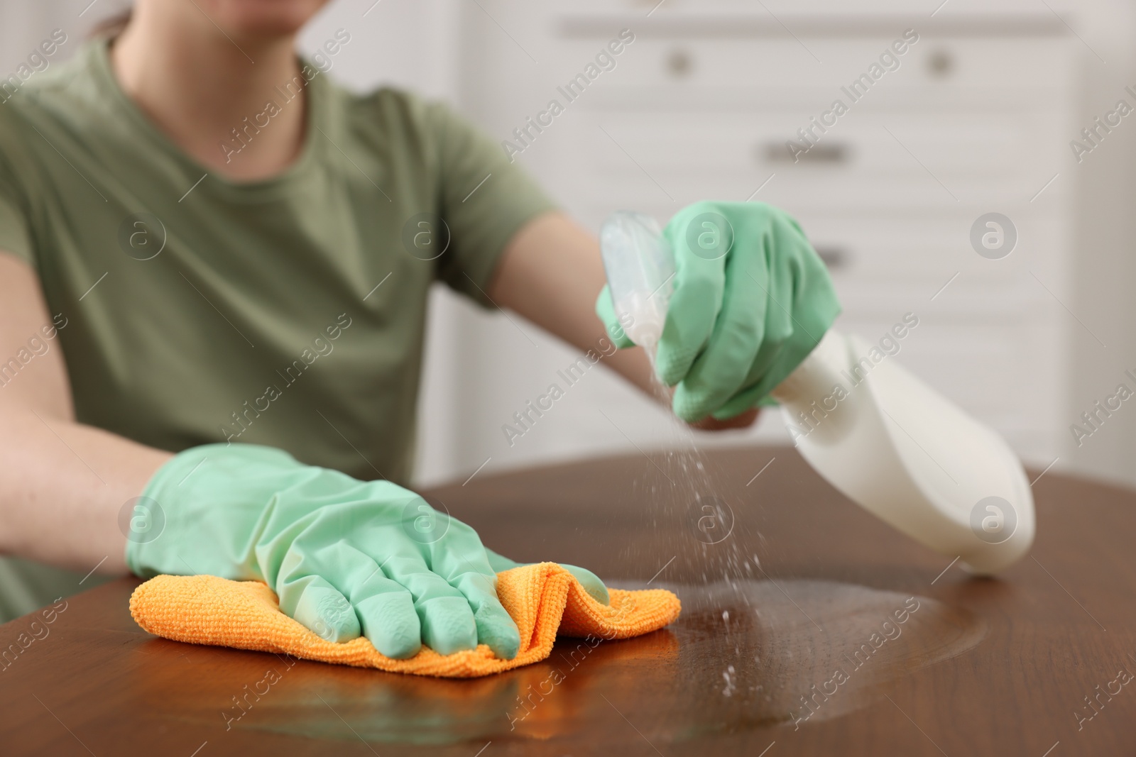
<svg viewBox="0 0 1136 757">
<path fill-rule="evenodd" d="M 611 604 L 601 605 L 556 563 L 498 573 L 498 597 L 520 629 L 520 651 L 513 659 L 494 657 L 484 644 L 452 655 L 423 647 L 409 659 L 392 659 L 366 637 L 345 644 L 326 641 L 282 613 L 265 583 L 216 575 L 154 577 L 134 590 L 131 615 L 150 633 L 190 644 L 287 653 L 392 673 L 477 678 L 546 658 L 558 633 L 629 639 L 678 617 L 678 597 L 665 589 L 608 591 Z"/>
</svg>

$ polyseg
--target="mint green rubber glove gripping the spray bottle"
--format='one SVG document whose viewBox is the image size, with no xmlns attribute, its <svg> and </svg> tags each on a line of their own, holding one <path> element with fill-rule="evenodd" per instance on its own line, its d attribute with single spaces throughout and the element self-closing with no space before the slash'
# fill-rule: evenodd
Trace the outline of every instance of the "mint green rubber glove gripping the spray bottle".
<svg viewBox="0 0 1136 757">
<path fill-rule="evenodd" d="M 765 203 L 699 202 L 662 234 L 675 255 L 675 287 L 655 370 L 677 385 L 675 414 L 725 420 L 771 402 L 769 392 L 841 312 L 801 226 Z M 607 286 L 595 310 L 616 346 L 630 346 Z"/>
</svg>

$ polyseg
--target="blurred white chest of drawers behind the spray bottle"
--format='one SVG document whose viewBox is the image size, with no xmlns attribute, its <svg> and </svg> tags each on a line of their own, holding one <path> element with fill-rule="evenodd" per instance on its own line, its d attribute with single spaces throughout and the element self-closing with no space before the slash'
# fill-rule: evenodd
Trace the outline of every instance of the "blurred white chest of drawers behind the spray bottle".
<svg viewBox="0 0 1136 757">
<path fill-rule="evenodd" d="M 1069 170 L 1068 142 L 1079 129 L 1069 123 L 1076 37 L 1028 3 L 992 14 L 960 2 L 935 18 L 934 8 L 913 14 L 896 2 L 871 3 L 870 12 L 768 5 L 776 18 L 760 3 L 730 1 L 667 0 L 650 16 L 654 2 L 491 3 L 515 40 L 488 22 L 471 30 L 500 36 L 500 47 L 468 73 L 467 102 L 502 140 L 550 99 L 566 104 L 518 160 L 593 229 L 616 209 L 666 221 L 702 199 L 788 210 L 830 264 L 843 329 L 874 342 L 916 313 L 919 327 L 897 360 L 1029 462 L 1047 464 L 1067 434 L 1069 330 L 1079 328 L 1062 304 L 1071 296 L 1075 185 L 1068 176 L 1047 185 Z M 615 69 L 567 102 L 557 87 L 621 28 L 635 41 Z M 911 28 L 918 42 L 886 60 L 893 69 L 853 101 L 846 87 Z M 800 142 L 797 129 L 836 99 L 847 112 L 815 132 L 817 146 L 794 162 L 786 142 Z M 971 225 L 988 212 L 1018 232 L 1001 260 L 971 247 Z M 507 369 L 519 377 L 504 386 L 486 378 L 483 388 L 538 384 L 567 354 L 540 352 Z M 588 381 L 578 412 L 494 465 L 630 448 L 621 432 L 642 447 L 674 440 L 661 432 L 666 414 L 618 380 L 596 372 Z M 504 422 L 500 410 L 481 412 L 474 429 Z M 787 439 L 767 415 L 754 436 Z"/>
</svg>

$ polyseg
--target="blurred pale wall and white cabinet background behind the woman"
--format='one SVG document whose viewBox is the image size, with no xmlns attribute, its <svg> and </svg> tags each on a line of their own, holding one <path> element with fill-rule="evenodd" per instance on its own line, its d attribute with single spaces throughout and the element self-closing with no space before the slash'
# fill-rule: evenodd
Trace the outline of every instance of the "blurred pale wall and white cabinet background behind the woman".
<svg viewBox="0 0 1136 757">
<path fill-rule="evenodd" d="M 0 0 L 0 76 L 56 28 L 73 54 L 128 5 Z M 1118 110 L 1136 109 L 1136 0 L 333 0 L 300 51 L 340 28 L 333 77 L 445 100 L 496 142 L 565 104 L 515 158 L 593 232 L 617 209 L 665 224 L 702 199 L 785 208 L 829 264 L 842 329 L 874 343 L 912 314 L 888 360 L 1038 471 L 1136 483 L 1136 399 L 1081 418 L 1136 390 L 1136 112 Z M 557 87 L 621 30 L 616 67 L 568 102 Z M 899 67 L 852 102 L 842 87 L 905 33 Z M 794 161 L 786 142 L 836 99 L 849 111 Z M 992 212 L 1016 232 L 1009 254 L 971 242 Z M 510 445 L 503 424 L 579 353 L 432 297 L 418 485 L 686 443 L 598 369 Z M 778 412 L 695 437 L 759 441 L 790 443 Z"/>
</svg>

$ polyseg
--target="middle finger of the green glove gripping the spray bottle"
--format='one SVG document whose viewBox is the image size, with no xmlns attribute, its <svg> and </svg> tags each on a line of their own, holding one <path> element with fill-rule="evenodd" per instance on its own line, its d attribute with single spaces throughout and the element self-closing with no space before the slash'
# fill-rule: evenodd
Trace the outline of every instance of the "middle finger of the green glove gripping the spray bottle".
<svg viewBox="0 0 1136 757">
<path fill-rule="evenodd" d="M 763 239 L 746 244 L 763 247 Z M 759 252 L 759 254 L 762 254 Z M 762 255 L 763 256 L 763 255 Z M 762 261 L 763 262 L 763 261 Z M 769 308 L 769 285 L 763 264 L 749 266 L 750 260 L 735 255 L 727 261 L 721 312 L 707 348 L 691 365 L 673 399 L 675 414 L 685 421 L 698 421 L 724 405 L 744 385 L 766 338 Z"/>
</svg>

